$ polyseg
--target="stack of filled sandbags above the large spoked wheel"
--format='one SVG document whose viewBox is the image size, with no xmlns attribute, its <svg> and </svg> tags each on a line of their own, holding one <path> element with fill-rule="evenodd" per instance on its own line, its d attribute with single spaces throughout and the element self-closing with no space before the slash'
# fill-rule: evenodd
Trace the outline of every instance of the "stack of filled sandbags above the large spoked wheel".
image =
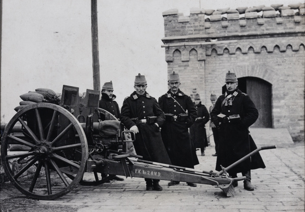
<svg viewBox="0 0 305 212">
<path fill-rule="evenodd" d="M 22 101 L 19 102 L 19 106 L 17 106 L 14 110 L 19 111 L 27 105 L 36 104 L 40 102 L 48 102 L 53 104 L 60 103 L 60 94 L 56 94 L 53 90 L 48 88 L 37 88 L 35 91 L 28 91 L 28 93 L 24 93 L 20 95 Z"/>
</svg>

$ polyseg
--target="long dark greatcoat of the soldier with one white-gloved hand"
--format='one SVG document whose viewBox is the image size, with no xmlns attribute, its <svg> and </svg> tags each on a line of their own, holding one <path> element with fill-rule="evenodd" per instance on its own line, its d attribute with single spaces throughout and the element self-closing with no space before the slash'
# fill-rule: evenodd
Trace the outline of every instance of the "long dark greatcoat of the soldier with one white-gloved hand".
<svg viewBox="0 0 305 212">
<path fill-rule="evenodd" d="M 162 142 L 159 127 L 154 123 L 136 124 L 131 120 L 132 118 L 147 119 L 148 116 L 157 116 L 155 123 L 159 127 L 165 121 L 164 113 L 160 109 L 157 100 L 147 92 L 143 95 L 138 95 L 134 91 L 124 100 L 121 108 L 120 121 L 128 129 L 134 125 L 138 127 L 139 133 L 136 133 L 136 140 L 133 143 L 137 155 L 143 156 L 144 160 L 171 164 Z"/>
</svg>

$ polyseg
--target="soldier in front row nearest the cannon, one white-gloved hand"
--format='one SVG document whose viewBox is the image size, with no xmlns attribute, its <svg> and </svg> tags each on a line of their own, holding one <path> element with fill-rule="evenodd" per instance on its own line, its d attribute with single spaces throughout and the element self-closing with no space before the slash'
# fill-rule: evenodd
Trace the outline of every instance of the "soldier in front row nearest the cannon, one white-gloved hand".
<svg viewBox="0 0 305 212">
<path fill-rule="evenodd" d="M 134 147 L 144 160 L 171 164 L 160 133 L 165 115 L 157 100 L 147 92 L 145 76 L 135 79 L 134 91 L 125 98 L 121 108 L 120 121 L 136 135 Z M 159 180 L 145 178 L 146 191 L 162 191 Z"/>
</svg>

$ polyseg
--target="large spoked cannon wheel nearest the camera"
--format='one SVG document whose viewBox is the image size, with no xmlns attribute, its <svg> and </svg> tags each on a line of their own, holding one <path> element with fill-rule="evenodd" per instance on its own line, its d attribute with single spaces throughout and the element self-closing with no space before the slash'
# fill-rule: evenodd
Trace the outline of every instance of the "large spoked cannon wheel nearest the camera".
<svg viewBox="0 0 305 212">
<path fill-rule="evenodd" d="M 20 124 L 22 132 L 15 133 Z M 9 151 L 16 145 L 27 150 Z M 82 179 L 87 158 L 81 125 L 69 111 L 55 104 L 28 105 L 11 119 L 3 133 L 4 170 L 12 184 L 31 198 L 51 200 L 70 192 Z"/>
</svg>

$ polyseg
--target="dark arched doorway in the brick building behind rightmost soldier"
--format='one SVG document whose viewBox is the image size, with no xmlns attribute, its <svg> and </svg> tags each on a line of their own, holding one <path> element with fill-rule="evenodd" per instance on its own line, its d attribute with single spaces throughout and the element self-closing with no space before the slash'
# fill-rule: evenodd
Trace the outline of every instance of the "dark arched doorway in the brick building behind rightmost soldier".
<svg viewBox="0 0 305 212">
<path fill-rule="evenodd" d="M 272 84 L 257 77 L 238 78 L 238 89 L 247 93 L 254 102 L 259 117 L 252 127 L 272 128 Z M 222 93 L 226 92 L 226 85 Z"/>
</svg>

